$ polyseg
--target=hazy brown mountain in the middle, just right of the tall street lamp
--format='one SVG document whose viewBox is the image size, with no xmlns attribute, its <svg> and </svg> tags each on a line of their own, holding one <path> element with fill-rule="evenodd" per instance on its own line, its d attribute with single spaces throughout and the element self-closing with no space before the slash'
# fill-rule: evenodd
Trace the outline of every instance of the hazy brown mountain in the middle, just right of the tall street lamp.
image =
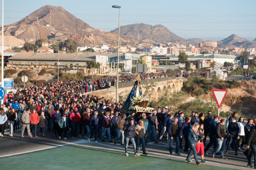
<svg viewBox="0 0 256 170">
<path fill-rule="evenodd" d="M 118 29 L 110 31 L 118 33 Z M 120 35 L 124 39 L 134 39 L 149 43 L 186 43 L 186 40 L 172 33 L 163 25 L 148 25 L 145 23 L 135 23 L 120 27 Z"/>
</svg>

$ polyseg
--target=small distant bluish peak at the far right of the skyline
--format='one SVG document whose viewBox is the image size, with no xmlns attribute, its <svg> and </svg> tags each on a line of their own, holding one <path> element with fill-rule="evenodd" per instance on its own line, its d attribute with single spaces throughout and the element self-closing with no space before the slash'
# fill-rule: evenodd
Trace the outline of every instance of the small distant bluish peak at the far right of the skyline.
<svg viewBox="0 0 256 170">
<path fill-rule="evenodd" d="M 236 34 L 232 34 L 229 37 L 218 41 L 218 47 L 220 48 L 235 48 L 235 47 L 255 47 L 256 41 L 249 41 L 245 38 L 241 38 Z"/>
</svg>

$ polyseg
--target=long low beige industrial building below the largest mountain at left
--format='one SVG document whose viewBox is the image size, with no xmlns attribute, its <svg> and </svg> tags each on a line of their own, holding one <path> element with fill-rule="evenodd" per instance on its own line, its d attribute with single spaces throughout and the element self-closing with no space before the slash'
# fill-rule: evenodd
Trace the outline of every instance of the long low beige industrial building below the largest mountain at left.
<svg viewBox="0 0 256 170">
<path fill-rule="evenodd" d="M 105 59 L 105 61 L 97 61 L 97 59 Z M 96 60 L 101 64 L 100 73 L 106 73 L 108 70 L 108 56 L 102 54 L 77 54 L 77 53 L 35 53 L 35 54 L 16 54 L 8 59 L 6 63 L 6 69 L 20 69 L 20 70 L 34 70 L 40 71 L 42 69 L 48 71 L 56 71 L 58 69 L 62 71 L 76 70 L 86 72 L 87 62 Z"/>
</svg>

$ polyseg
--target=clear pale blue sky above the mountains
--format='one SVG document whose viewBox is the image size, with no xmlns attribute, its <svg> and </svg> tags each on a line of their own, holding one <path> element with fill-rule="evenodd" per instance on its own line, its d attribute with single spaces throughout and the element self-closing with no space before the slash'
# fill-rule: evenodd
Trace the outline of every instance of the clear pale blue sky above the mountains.
<svg viewBox="0 0 256 170">
<path fill-rule="evenodd" d="M 256 0 L 5 0 L 4 25 L 28 16 L 44 5 L 61 6 L 94 28 L 110 31 L 132 23 L 161 24 L 176 35 L 220 40 L 231 34 L 256 38 Z"/>
</svg>

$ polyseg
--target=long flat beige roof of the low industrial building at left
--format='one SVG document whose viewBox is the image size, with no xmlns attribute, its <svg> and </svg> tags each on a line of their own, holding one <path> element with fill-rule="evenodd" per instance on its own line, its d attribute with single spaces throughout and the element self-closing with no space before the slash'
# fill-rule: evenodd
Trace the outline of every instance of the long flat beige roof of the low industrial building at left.
<svg viewBox="0 0 256 170">
<path fill-rule="evenodd" d="M 96 55 L 103 54 L 76 54 L 76 53 L 35 53 L 35 54 L 16 54 L 13 57 L 9 58 L 9 61 L 57 61 L 59 56 L 59 61 L 90 61 L 95 60 Z M 108 55 L 105 55 L 108 56 Z"/>
</svg>

